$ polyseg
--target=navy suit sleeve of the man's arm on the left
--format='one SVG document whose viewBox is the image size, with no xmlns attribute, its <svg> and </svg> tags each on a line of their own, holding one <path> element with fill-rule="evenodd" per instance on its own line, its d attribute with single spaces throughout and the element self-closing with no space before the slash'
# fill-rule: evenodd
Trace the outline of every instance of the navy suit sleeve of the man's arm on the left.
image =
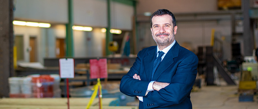
<svg viewBox="0 0 258 109">
<path fill-rule="evenodd" d="M 125 95 L 134 97 L 134 96 L 145 96 L 145 93 L 148 88 L 148 84 L 150 81 L 143 81 L 134 79 L 134 74 L 139 75 L 143 54 L 142 51 L 139 51 L 137 54 L 136 60 L 133 66 L 130 68 L 129 72 L 124 75 L 120 82 L 120 92 L 124 93 Z"/>
</svg>

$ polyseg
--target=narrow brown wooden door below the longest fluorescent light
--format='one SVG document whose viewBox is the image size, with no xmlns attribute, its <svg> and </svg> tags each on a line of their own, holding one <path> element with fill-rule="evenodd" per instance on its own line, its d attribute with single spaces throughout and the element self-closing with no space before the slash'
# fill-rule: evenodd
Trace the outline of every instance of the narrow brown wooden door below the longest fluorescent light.
<svg viewBox="0 0 258 109">
<path fill-rule="evenodd" d="M 30 37 L 30 62 L 37 62 L 37 40 L 36 37 Z"/>
</svg>

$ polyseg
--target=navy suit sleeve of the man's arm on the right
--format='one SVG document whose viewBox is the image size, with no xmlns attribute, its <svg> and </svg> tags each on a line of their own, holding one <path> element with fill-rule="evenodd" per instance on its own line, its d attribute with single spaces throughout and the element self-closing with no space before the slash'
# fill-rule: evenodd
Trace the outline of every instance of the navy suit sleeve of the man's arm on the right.
<svg viewBox="0 0 258 109">
<path fill-rule="evenodd" d="M 154 107 L 166 107 L 184 101 L 189 96 L 195 82 L 197 65 L 196 55 L 190 55 L 181 60 L 171 83 L 167 87 L 159 91 L 149 92 L 147 96 L 143 97 L 144 108 L 149 108 L 147 107 L 148 103 L 154 103 Z"/>
</svg>

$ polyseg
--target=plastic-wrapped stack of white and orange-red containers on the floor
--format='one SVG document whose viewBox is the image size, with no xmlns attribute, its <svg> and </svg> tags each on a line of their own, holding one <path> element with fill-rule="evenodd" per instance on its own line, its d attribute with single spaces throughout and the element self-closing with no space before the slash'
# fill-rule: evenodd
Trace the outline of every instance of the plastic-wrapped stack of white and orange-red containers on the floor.
<svg viewBox="0 0 258 109">
<path fill-rule="evenodd" d="M 58 74 L 10 77 L 10 97 L 61 97 Z"/>
</svg>

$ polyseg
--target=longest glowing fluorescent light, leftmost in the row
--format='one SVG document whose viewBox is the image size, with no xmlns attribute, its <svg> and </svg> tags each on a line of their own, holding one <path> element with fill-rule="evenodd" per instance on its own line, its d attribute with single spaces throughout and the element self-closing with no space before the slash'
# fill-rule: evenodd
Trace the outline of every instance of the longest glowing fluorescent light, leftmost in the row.
<svg viewBox="0 0 258 109">
<path fill-rule="evenodd" d="M 43 28 L 49 28 L 51 26 L 49 23 L 38 23 L 38 22 L 29 22 L 29 21 L 13 21 L 13 25 L 33 26 L 33 27 L 43 27 Z"/>
</svg>

